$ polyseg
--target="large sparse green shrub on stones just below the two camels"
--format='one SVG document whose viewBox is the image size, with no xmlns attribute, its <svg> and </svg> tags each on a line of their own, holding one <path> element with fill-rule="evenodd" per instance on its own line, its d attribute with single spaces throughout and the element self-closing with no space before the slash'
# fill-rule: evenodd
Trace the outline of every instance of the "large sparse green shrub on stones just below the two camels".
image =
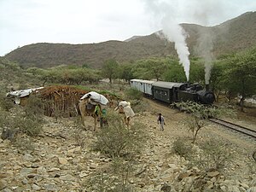
<svg viewBox="0 0 256 192">
<path fill-rule="evenodd" d="M 97 133 L 94 150 L 101 151 L 110 157 L 132 156 L 140 153 L 145 141 L 143 125 L 135 122 L 128 129 L 118 113 L 108 113 L 106 119 L 108 127 Z"/>
</svg>

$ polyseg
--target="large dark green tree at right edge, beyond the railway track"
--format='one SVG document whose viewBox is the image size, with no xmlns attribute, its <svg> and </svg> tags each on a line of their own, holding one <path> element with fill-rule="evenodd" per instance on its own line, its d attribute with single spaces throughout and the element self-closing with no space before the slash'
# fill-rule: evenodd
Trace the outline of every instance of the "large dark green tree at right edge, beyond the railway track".
<svg viewBox="0 0 256 192">
<path fill-rule="evenodd" d="M 241 97 L 240 106 L 243 112 L 244 100 L 256 94 L 256 48 L 227 58 L 226 63 L 224 83 L 230 92 Z"/>
</svg>

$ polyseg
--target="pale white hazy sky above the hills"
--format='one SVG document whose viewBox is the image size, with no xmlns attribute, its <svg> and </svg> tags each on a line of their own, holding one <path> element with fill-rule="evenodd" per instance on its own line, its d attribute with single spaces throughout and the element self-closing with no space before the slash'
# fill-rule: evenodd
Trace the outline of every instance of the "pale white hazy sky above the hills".
<svg viewBox="0 0 256 192">
<path fill-rule="evenodd" d="M 160 30 L 160 18 L 145 5 L 149 2 L 166 2 L 162 9 L 178 23 L 204 26 L 256 10 L 256 0 L 0 0 L 0 55 L 26 44 L 91 44 L 149 35 Z"/>
</svg>

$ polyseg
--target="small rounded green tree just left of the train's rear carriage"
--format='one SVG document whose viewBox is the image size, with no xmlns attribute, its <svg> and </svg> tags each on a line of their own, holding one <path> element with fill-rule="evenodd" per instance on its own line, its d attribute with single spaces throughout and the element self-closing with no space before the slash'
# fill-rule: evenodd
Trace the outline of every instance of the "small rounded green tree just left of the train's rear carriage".
<svg viewBox="0 0 256 192">
<path fill-rule="evenodd" d="M 102 76 L 104 78 L 108 78 L 110 84 L 112 84 L 112 79 L 116 78 L 118 67 L 118 62 L 113 59 L 105 61 L 105 63 L 102 66 Z"/>
</svg>

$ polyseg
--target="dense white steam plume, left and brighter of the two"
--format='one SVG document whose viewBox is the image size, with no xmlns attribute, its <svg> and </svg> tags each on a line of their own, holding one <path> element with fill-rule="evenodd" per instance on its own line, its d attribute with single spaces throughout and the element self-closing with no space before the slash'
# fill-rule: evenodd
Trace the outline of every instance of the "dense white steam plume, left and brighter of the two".
<svg viewBox="0 0 256 192">
<path fill-rule="evenodd" d="M 155 25 L 159 25 L 169 41 L 175 43 L 175 49 L 180 63 L 183 64 L 187 81 L 189 81 L 189 48 L 186 44 L 186 34 L 176 20 L 176 9 L 172 1 L 144 0 L 148 10 L 154 14 Z"/>
</svg>

